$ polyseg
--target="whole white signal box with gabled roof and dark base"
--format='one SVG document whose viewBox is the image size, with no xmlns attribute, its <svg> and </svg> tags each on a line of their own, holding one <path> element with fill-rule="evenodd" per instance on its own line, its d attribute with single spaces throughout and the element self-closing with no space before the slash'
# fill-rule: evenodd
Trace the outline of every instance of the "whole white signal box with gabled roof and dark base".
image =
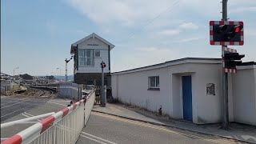
<svg viewBox="0 0 256 144">
<path fill-rule="evenodd" d="M 74 83 L 101 85 L 102 68 L 100 63 L 106 64 L 104 68 L 105 85 L 110 83 L 110 50 L 114 45 L 107 42 L 97 34 L 90 34 L 71 45 L 70 53 L 74 54 Z"/>
</svg>

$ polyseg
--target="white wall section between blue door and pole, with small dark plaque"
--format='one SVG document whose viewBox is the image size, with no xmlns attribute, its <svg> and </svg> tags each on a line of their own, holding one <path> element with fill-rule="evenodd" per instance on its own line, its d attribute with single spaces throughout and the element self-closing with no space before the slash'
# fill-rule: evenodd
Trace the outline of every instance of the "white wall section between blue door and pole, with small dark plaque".
<svg viewBox="0 0 256 144">
<path fill-rule="evenodd" d="M 222 65 L 192 64 L 193 122 L 215 123 L 222 120 Z M 215 95 L 206 94 L 207 83 L 214 83 Z"/>
</svg>

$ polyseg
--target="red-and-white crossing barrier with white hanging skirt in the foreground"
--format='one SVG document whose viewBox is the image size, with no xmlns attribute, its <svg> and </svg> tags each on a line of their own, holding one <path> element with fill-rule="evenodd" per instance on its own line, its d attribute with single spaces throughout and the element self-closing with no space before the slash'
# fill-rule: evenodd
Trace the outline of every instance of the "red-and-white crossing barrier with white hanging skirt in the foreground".
<svg viewBox="0 0 256 144">
<path fill-rule="evenodd" d="M 94 99 L 95 90 L 92 90 L 85 99 L 15 134 L 13 137 L 2 142 L 2 144 L 75 143 L 82 128 L 86 126 L 90 118 L 90 112 L 94 106 Z"/>
</svg>

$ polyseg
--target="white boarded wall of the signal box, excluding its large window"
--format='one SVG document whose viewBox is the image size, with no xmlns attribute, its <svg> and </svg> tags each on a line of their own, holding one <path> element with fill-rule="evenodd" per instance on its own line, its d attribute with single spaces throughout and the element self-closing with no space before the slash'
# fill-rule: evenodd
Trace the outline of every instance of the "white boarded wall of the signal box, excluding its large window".
<svg viewBox="0 0 256 144">
<path fill-rule="evenodd" d="M 88 46 L 88 44 L 97 44 L 98 46 Z M 109 73 L 109 46 L 100 41 L 98 38 L 89 38 L 84 42 L 78 44 L 78 49 L 90 49 L 90 50 L 100 50 L 101 57 L 94 58 L 94 66 L 78 66 L 78 70 L 75 70 L 74 73 L 101 73 L 102 68 L 100 63 L 103 61 L 106 64 L 106 68 L 103 69 L 105 73 Z"/>
</svg>

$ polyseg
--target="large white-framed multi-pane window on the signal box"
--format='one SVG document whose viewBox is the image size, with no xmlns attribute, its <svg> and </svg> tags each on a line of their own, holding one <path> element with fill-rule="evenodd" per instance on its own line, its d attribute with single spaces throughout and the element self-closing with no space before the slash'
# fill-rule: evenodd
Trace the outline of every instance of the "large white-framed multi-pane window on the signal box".
<svg viewBox="0 0 256 144">
<path fill-rule="evenodd" d="M 78 50 L 79 66 L 94 66 L 94 50 Z"/>
</svg>

